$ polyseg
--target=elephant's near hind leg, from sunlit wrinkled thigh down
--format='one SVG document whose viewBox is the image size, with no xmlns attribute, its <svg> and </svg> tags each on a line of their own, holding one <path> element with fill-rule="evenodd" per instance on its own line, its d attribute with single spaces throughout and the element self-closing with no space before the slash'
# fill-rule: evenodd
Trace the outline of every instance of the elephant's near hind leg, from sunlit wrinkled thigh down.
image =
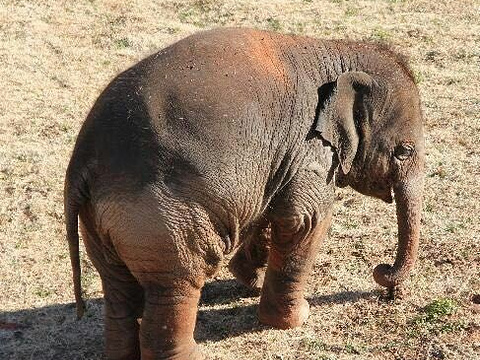
<svg viewBox="0 0 480 360">
<path fill-rule="evenodd" d="M 200 290 L 224 251 L 209 214 L 150 191 L 105 208 L 102 225 L 144 289 L 142 360 L 201 359 L 193 337 Z"/>
</svg>

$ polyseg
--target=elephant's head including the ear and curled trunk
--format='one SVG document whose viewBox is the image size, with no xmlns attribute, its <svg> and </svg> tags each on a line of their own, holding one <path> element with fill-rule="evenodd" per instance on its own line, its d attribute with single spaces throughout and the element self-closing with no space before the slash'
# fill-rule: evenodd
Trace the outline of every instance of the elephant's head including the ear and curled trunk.
<svg viewBox="0 0 480 360">
<path fill-rule="evenodd" d="M 418 90 L 408 71 L 370 76 L 346 72 L 323 89 L 316 130 L 335 150 L 335 182 L 396 202 L 398 252 L 378 265 L 375 281 L 394 288 L 412 269 L 418 250 L 425 150 Z M 328 93 L 325 96 L 325 93 Z"/>
</svg>

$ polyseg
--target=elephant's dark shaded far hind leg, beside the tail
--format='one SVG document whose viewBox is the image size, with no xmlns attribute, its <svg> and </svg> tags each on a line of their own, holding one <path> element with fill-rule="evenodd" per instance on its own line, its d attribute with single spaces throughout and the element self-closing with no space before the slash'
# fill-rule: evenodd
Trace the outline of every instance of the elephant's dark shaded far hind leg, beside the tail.
<svg viewBox="0 0 480 360">
<path fill-rule="evenodd" d="M 105 300 L 105 355 L 109 360 L 139 360 L 137 318 L 143 311 L 144 291 L 116 253 L 105 246 L 90 213 L 80 214 L 84 243 L 102 279 Z"/>
</svg>

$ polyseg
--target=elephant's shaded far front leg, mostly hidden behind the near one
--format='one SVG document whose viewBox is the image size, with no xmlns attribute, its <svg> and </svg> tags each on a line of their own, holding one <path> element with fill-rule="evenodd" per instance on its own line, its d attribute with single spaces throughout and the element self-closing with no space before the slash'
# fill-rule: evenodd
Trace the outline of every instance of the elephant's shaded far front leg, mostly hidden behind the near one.
<svg viewBox="0 0 480 360">
<path fill-rule="evenodd" d="M 267 269 L 270 228 L 267 222 L 253 225 L 245 234 L 242 246 L 228 264 L 230 272 L 247 288 L 260 294 Z"/>
</svg>

